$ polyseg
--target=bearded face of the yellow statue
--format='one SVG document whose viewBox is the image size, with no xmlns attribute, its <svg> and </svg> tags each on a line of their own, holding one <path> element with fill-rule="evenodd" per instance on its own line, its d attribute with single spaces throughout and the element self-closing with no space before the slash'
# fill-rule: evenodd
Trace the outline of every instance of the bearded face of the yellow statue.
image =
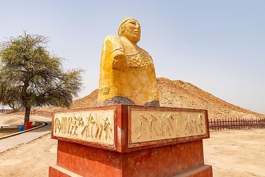
<svg viewBox="0 0 265 177">
<path fill-rule="evenodd" d="M 139 42 L 141 36 L 141 28 L 138 21 L 134 19 L 128 20 L 124 24 L 124 34 L 122 36 L 126 37 L 129 41 Z"/>
</svg>

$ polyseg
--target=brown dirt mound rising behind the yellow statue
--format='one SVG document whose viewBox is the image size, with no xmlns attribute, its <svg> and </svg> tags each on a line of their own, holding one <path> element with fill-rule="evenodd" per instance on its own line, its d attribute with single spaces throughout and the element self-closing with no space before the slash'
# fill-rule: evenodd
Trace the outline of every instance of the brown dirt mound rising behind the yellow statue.
<svg viewBox="0 0 265 177">
<path fill-rule="evenodd" d="M 264 118 L 264 114 L 240 108 L 200 88 L 182 80 L 157 78 L 160 106 L 177 108 L 207 109 L 211 118 Z M 90 95 L 71 102 L 70 109 L 86 108 L 97 105 L 98 89 Z M 61 110 L 58 107 L 40 108 L 41 110 Z"/>
</svg>

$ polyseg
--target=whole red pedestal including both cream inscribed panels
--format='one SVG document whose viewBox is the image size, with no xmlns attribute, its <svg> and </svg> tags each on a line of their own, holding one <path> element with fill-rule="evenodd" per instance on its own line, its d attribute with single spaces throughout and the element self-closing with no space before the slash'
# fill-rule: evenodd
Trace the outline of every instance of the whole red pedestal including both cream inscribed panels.
<svg viewBox="0 0 265 177">
<path fill-rule="evenodd" d="M 54 112 L 49 176 L 212 176 L 207 110 L 109 105 Z"/>
</svg>

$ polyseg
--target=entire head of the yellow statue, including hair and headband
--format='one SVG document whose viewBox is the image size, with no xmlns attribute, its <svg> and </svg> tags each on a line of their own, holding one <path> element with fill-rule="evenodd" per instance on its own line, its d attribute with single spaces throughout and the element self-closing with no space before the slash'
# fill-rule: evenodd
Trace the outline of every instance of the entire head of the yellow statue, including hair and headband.
<svg viewBox="0 0 265 177">
<path fill-rule="evenodd" d="M 139 22 L 136 19 L 129 17 L 123 19 L 119 25 L 118 34 L 119 37 L 125 37 L 131 42 L 139 42 L 141 36 Z"/>
</svg>

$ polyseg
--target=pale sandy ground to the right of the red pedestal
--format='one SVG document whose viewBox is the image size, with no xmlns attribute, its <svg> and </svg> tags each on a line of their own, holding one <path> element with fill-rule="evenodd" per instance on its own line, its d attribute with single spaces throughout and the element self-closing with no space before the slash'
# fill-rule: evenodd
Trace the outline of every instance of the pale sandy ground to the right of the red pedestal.
<svg viewBox="0 0 265 177">
<path fill-rule="evenodd" d="M 214 176 L 265 176 L 265 129 L 221 130 L 203 140 Z"/>
</svg>

